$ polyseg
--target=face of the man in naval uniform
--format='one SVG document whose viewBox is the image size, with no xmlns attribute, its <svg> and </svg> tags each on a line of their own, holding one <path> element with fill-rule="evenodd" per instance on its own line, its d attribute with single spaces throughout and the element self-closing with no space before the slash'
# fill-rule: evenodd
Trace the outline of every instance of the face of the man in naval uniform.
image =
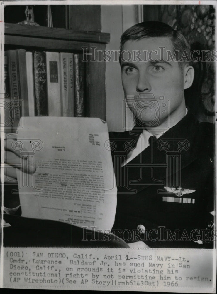
<svg viewBox="0 0 217 294">
<path fill-rule="evenodd" d="M 159 47 L 165 47 L 163 56 L 160 55 Z M 168 61 L 166 50 L 170 50 L 173 55 L 172 42 L 169 38 L 129 40 L 124 44 L 124 50 L 130 51 L 131 55 L 126 53 L 121 60 L 122 84 L 128 106 L 137 121 L 151 127 L 153 120 L 157 118 L 158 125 L 161 125 L 168 121 L 169 116 L 177 115 L 180 109 L 185 109 L 184 74 L 177 61 Z M 135 50 L 141 52 L 142 60 L 144 60 L 143 50 L 147 51 L 146 61 L 135 58 L 133 53 Z M 153 52 L 149 56 L 152 50 L 157 50 L 157 53 Z M 128 61 L 129 56 L 131 59 Z M 155 59 L 159 61 L 153 62 Z M 154 101 L 150 101 L 151 95 L 148 93 L 154 95 L 152 95 L 155 97 Z M 129 99 L 128 96 L 135 98 Z M 159 96 L 160 99 L 164 96 L 165 103 L 159 100 Z M 142 101 L 138 101 L 140 98 Z"/>
</svg>

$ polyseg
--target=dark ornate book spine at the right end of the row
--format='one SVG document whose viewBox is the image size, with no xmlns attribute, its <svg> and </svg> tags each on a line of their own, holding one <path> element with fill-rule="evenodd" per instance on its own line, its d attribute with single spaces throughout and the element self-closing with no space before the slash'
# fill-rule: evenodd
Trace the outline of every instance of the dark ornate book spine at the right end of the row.
<svg viewBox="0 0 217 294">
<path fill-rule="evenodd" d="M 82 54 L 74 54 L 74 116 L 84 116 L 84 62 Z"/>
</svg>

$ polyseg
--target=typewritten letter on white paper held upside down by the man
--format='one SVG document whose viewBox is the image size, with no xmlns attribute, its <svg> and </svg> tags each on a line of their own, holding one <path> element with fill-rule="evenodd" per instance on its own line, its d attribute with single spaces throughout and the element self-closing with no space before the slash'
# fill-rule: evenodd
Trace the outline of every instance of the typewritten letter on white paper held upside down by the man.
<svg viewBox="0 0 217 294">
<path fill-rule="evenodd" d="M 32 137 L 36 139 L 25 140 Z M 102 230 L 112 228 L 117 186 L 111 151 L 104 147 L 109 142 L 104 121 L 25 117 L 18 140 L 26 142 L 27 150 L 37 143 L 35 174 L 17 171 L 23 217 Z M 31 156 L 27 160 L 31 161 Z"/>
</svg>

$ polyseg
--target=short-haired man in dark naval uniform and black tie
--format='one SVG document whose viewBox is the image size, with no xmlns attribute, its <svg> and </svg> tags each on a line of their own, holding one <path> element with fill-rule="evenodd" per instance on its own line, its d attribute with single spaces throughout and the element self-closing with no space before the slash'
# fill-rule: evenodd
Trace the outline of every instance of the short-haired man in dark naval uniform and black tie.
<svg viewBox="0 0 217 294">
<path fill-rule="evenodd" d="M 194 79 L 183 57 L 189 45 L 167 24 L 143 22 L 123 33 L 121 52 L 135 127 L 110 133 L 118 187 L 113 232 L 149 247 L 211 247 L 214 131 L 185 105 Z"/>
</svg>

